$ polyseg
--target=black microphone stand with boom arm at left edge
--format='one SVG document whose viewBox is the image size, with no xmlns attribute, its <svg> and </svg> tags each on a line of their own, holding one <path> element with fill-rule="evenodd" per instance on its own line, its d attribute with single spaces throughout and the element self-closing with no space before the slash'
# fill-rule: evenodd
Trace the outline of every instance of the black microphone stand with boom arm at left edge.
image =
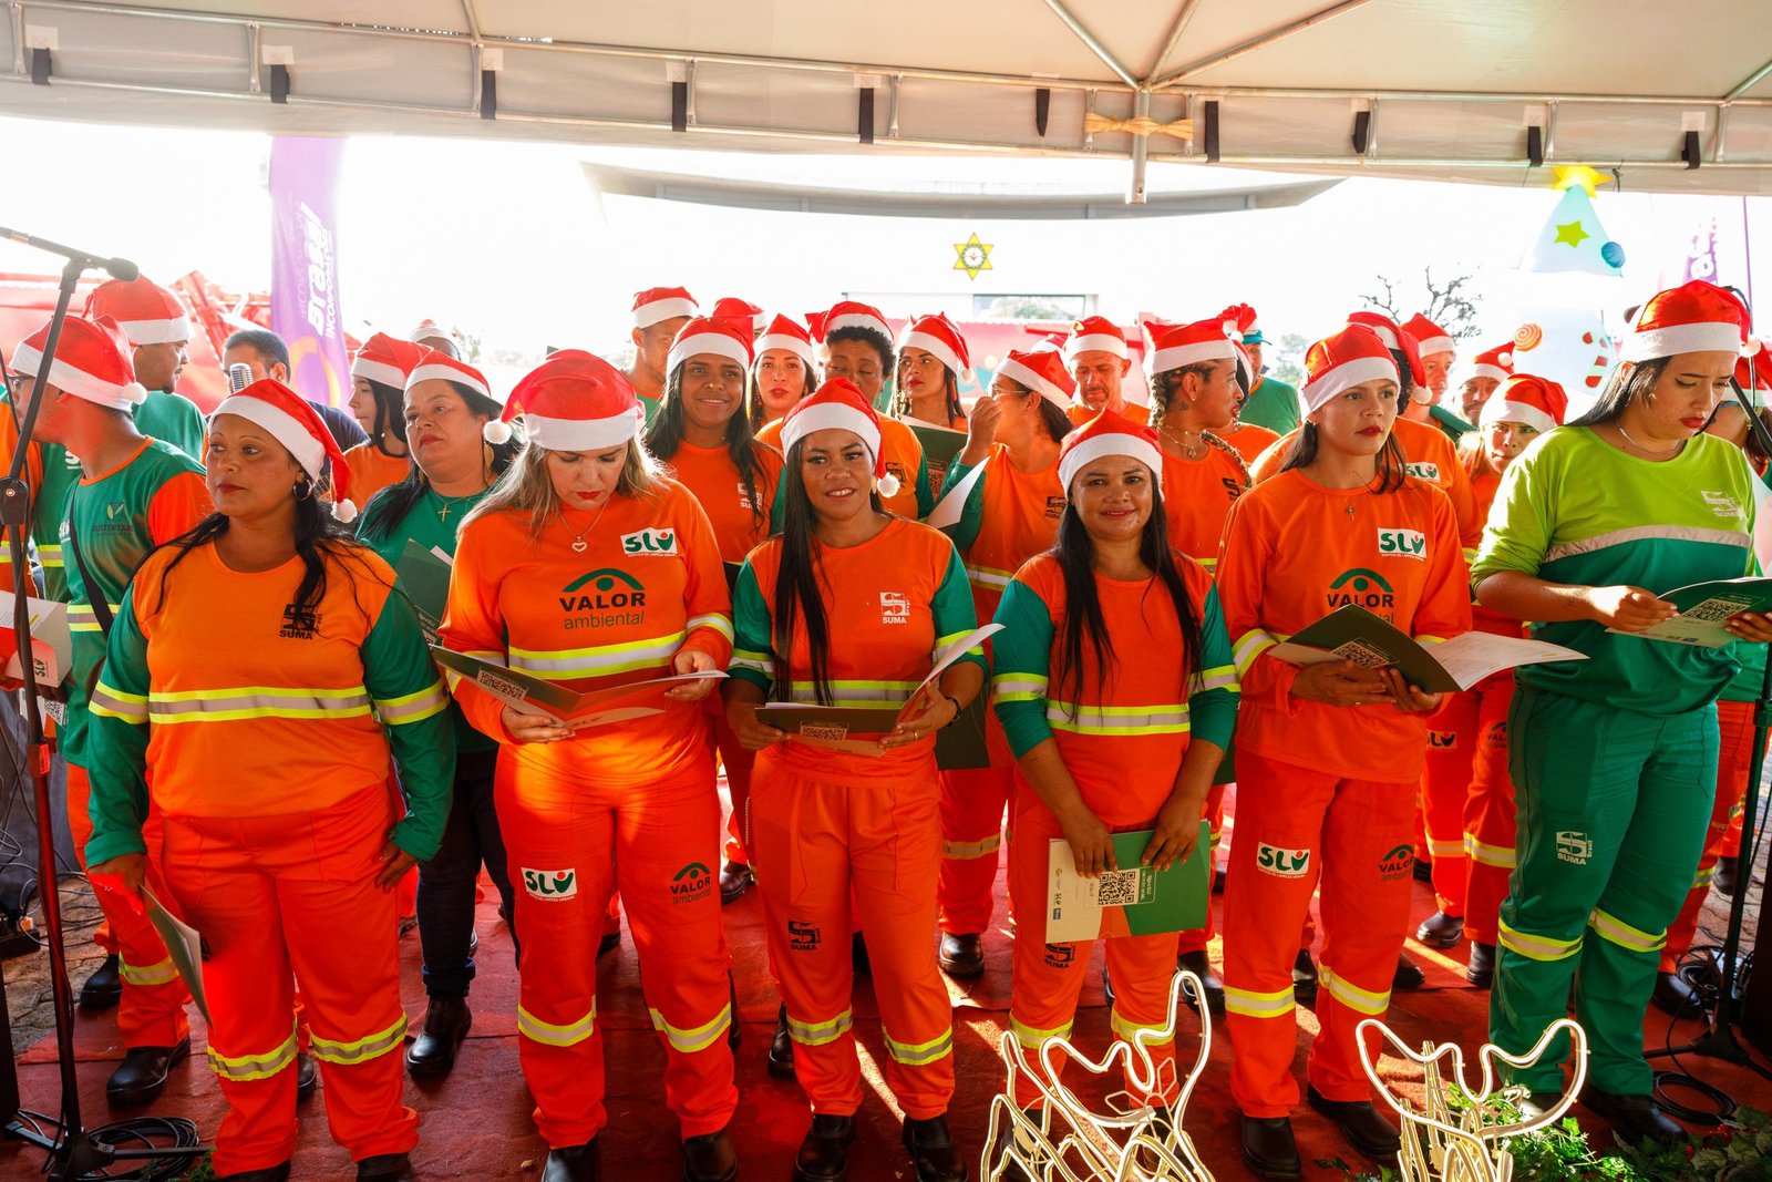
<svg viewBox="0 0 1772 1182">
<path fill-rule="evenodd" d="M 80 1120 L 80 1077 L 74 1065 L 74 991 L 67 980 L 67 953 L 62 948 L 62 898 L 55 874 L 55 831 L 50 824 L 50 743 L 43 734 L 41 695 L 37 693 L 35 661 L 30 636 L 30 567 L 25 558 L 25 537 L 30 530 L 32 489 L 25 480 L 25 455 L 32 443 L 32 429 L 37 425 L 37 408 L 43 390 L 50 385 L 50 365 L 55 362 L 55 349 L 62 340 L 62 324 L 67 323 L 67 305 L 73 301 L 80 276 L 90 268 L 103 268 L 119 278 L 135 278 L 136 268 L 124 259 L 101 259 L 71 246 L 60 246 L 44 239 L 0 227 L 0 237 L 25 241 L 32 246 L 60 253 L 67 259 L 62 268 L 62 282 L 55 299 L 55 315 L 50 319 L 50 335 L 43 344 L 43 363 L 32 379 L 32 397 L 23 408 L 18 422 L 18 447 L 12 450 L 12 466 L 5 478 L 0 478 L 0 530 L 5 532 L 9 556 L 12 560 L 12 633 L 18 638 L 19 680 L 25 682 L 25 762 L 35 790 L 37 808 L 37 883 L 43 902 L 44 948 L 50 953 L 50 991 L 55 1007 L 55 1049 L 60 1065 L 62 1083 L 62 1118 L 44 1120 L 53 1131 L 46 1134 L 34 1120 L 21 1113 L 0 1113 L 7 1120 L 5 1136 L 27 1141 L 50 1154 L 44 1173 L 51 1182 L 76 1182 L 80 1178 L 105 1178 L 110 1166 L 122 1161 L 145 1159 L 191 1159 L 209 1152 L 207 1147 L 158 1147 L 122 1148 L 99 1138 L 103 1129 L 89 1132 Z M 0 379 L 0 385 L 5 385 Z M 12 390 L 7 388 L 7 395 Z M 18 404 L 14 400 L 14 409 Z M 7 1067 L 16 1065 L 7 1047 Z M 140 1139 L 140 1138 L 135 1138 Z"/>
</svg>

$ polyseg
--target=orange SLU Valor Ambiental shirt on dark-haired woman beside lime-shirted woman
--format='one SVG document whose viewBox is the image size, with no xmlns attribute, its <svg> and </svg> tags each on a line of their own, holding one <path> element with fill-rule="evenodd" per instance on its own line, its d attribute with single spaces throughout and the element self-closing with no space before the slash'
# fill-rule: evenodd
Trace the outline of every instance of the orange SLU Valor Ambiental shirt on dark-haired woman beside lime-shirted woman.
<svg viewBox="0 0 1772 1182">
<path fill-rule="evenodd" d="M 1294 698 L 1299 670 L 1269 649 L 1350 603 L 1419 642 L 1471 631 L 1469 569 L 1444 493 L 1423 480 L 1384 494 L 1325 489 L 1283 471 L 1232 509 L 1217 592 L 1242 680 L 1239 750 L 1350 780 L 1421 776 L 1421 714 Z"/>
</svg>

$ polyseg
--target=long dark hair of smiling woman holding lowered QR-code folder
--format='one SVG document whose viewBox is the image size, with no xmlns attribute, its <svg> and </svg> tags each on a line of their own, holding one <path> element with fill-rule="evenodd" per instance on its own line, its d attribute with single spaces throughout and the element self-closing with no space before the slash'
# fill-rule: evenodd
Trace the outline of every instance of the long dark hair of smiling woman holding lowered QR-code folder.
<svg viewBox="0 0 1772 1182">
<path fill-rule="evenodd" d="M 1118 654 L 1108 643 L 1108 620 L 1102 617 L 1102 603 L 1095 588 L 1095 539 L 1090 537 L 1083 517 L 1069 502 L 1058 519 L 1058 540 L 1047 553 L 1058 558 L 1058 569 L 1065 576 L 1065 624 L 1058 638 L 1058 668 L 1053 670 L 1053 689 L 1056 698 L 1070 702 L 1074 721 L 1077 698 L 1083 696 L 1086 656 L 1093 656 L 1095 666 L 1100 670 L 1100 682 L 1106 686 L 1118 666 Z M 1194 611 L 1194 601 L 1175 564 L 1175 551 L 1170 549 L 1170 525 L 1161 493 L 1152 496 L 1150 521 L 1145 523 L 1145 532 L 1138 539 L 1138 558 L 1150 567 L 1152 574 L 1168 588 L 1170 599 L 1175 601 L 1175 618 L 1182 626 L 1182 668 L 1187 670 L 1189 686 L 1198 686 L 1200 652 L 1205 642 L 1200 636 L 1200 615 Z M 1182 686 L 1182 689 L 1189 689 L 1189 686 Z"/>
</svg>

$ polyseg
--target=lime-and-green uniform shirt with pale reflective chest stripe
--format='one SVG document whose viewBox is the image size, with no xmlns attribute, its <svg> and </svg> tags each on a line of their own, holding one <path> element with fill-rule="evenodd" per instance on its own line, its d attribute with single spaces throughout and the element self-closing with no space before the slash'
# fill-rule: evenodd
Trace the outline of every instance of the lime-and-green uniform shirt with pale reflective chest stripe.
<svg viewBox="0 0 1772 1182">
<path fill-rule="evenodd" d="M 1671 461 L 1625 455 L 1588 427 L 1558 427 L 1508 464 L 1471 564 L 1471 585 L 1499 571 L 1550 583 L 1657 594 L 1733 579 L 1754 567 L 1753 471 L 1738 448 L 1699 434 Z M 1683 714 L 1740 665 L 1705 649 L 1609 633 L 1593 620 L 1533 624 L 1533 636 L 1588 654 L 1515 670 L 1520 684 L 1639 714 Z M 1763 657 L 1761 657 L 1763 659 Z"/>
</svg>

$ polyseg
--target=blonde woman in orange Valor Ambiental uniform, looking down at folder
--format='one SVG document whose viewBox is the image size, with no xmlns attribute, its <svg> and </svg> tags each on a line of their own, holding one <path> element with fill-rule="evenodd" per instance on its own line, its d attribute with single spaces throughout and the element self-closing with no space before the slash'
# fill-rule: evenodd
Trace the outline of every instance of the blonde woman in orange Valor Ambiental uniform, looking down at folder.
<svg viewBox="0 0 1772 1182">
<path fill-rule="evenodd" d="M 608 362 L 555 353 L 517 383 L 503 420 L 528 447 L 462 525 L 439 640 L 455 652 L 578 688 L 725 668 L 732 652 L 719 542 L 682 484 L 636 438 L 640 402 Z M 489 424 L 489 438 L 507 436 Z M 468 721 L 500 743 L 494 799 L 519 872 L 517 1054 L 548 1141 L 542 1182 L 599 1177 L 604 1113 L 595 946 L 620 888 L 684 1178 L 732 1178 L 737 1106 L 727 941 L 711 865 L 719 796 L 700 698 L 569 730 L 450 677 Z"/>
</svg>

